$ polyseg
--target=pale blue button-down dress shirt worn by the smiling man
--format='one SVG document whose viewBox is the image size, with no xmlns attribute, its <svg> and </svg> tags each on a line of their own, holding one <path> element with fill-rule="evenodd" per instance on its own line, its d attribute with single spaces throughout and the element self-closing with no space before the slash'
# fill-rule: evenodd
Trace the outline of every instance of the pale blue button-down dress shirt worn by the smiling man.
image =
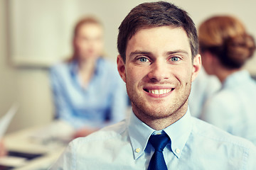
<svg viewBox="0 0 256 170">
<path fill-rule="evenodd" d="M 127 120 L 70 143 L 51 169 L 147 169 L 154 148 L 148 142 L 155 130 L 134 113 Z M 164 129 L 171 142 L 164 148 L 168 169 L 256 169 L 256 147 L 188 111 Z"/>
</svg>

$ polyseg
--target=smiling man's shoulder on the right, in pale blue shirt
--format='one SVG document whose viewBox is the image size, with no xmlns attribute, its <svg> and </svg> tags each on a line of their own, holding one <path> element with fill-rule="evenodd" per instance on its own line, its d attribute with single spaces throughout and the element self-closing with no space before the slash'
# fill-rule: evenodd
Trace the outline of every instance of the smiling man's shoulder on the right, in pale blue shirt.
<svg viewBox="0 0 256 170">
<path fill-rule="evenodd" d="M 192 119 L 191 135 L 181 160 L 196 160 L 194 167 L 210 165 L 211 169 L 256 169 L 256 147 L 252 142 L 230 135 L 214 125 Z M 201 169 L 201 168 L 199 168 Z"/>
</svg>

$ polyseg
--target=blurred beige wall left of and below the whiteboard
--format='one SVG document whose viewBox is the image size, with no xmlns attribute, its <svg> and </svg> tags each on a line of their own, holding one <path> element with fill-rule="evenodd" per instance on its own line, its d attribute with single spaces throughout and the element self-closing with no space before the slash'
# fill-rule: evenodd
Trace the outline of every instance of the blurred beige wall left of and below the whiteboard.
<svg viewBox="0 0 256 170">
<path fill-rule="evenodd" d="M 53 105 L 48 85 L 48 72 L 44 69 L 14 67 L 10 62 L 6 27 L 6 1 L 0 0 L 0 116 L 13 103 L 20 108 L 8 132 L 33 125 L 49 123 Z"/>
</svg>

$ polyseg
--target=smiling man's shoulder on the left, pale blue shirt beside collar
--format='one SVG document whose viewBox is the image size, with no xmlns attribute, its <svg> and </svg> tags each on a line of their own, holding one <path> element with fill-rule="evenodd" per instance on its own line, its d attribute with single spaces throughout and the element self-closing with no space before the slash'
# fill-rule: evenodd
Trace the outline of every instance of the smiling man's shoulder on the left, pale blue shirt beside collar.
<svg viewBox="0 0 256 170">
<path fill-rule="evenodd" d="M 54 168 L 63 164 L 67 169 L 133 169 L 136 164 L 126 123 L 122 121 L 73 140 Z"/>
</svg>

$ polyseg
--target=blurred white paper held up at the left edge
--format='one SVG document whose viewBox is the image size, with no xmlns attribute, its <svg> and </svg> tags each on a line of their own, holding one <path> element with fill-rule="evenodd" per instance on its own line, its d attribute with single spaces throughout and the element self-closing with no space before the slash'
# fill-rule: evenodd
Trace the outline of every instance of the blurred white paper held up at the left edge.
<svg viewBox="0 0 256 170">
<path fill-rule="evenodd" d="M 0 119 L 0 139 L 4 136 L 17 110 L 18 110 L 18 105 L 14 104 L 13 106 L 11 106 L 9 111 Z"/>
</svg>

